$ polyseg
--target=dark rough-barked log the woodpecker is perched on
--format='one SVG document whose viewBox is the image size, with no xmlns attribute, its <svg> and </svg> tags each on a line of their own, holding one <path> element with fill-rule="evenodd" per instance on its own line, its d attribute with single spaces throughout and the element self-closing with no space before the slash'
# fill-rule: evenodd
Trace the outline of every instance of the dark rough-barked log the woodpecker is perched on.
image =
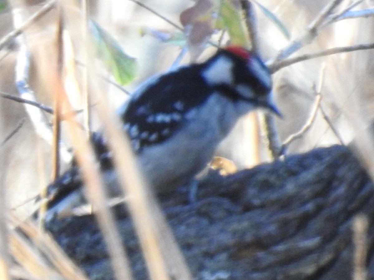
<svg viewBox="0 0 374 280">
<path fill-rule="evenodd" d="M 352 279 L 352 220 L 368 217 L 370 278 L 374 277 L 374 186 L 343 146 L 200 182 L 197 202 L 186 191 L 160 197 L 195 279 Z M 148 279 L 126 211 L 118 227 L 135 279 Z M 48 225 L 62 248 L 92 279 L 112 279 L 92 216 Z"/>
</svg>

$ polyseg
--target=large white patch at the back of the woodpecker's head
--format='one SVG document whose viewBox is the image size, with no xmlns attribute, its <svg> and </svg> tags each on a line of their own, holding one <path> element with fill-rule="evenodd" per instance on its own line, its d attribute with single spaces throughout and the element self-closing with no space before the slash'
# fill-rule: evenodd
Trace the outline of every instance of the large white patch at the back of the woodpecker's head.
<svg viewBox="0 0 374 280">
<path fill-rule="evenodd" d="M 232 61 L 227 57 L 221 56 L 205 68 L 202 75 L 206 83 L 211 86 L 217 84 L 232 85 L 234 83 L 232 68 Z"/>
</svg>

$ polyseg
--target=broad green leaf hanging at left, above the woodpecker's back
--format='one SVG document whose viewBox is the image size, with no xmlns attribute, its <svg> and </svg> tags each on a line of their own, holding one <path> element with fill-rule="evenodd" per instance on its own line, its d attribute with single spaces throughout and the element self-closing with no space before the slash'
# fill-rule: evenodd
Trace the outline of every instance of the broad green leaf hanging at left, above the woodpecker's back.
<svg viewBox="0 0 374 280">
<path fill-rule="evenodd" d="M 96 22 L 90 21 L 94 47 L 105 67 L 120 85 L 130 83 L 137 75 L 137 63 L 126 55 L 122 47 Z"/>
</svg>

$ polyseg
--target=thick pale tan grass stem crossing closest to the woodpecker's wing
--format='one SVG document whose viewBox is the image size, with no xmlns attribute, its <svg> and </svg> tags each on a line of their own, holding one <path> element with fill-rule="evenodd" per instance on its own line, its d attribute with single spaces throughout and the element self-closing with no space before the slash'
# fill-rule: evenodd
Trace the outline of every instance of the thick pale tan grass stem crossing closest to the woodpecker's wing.
<svg viewBox="0 0 374 280">
<path fill-rule="evenodd" d="M 144 189 L 144 181 L 136 168 L 131 147 L 122 133 L 119 120 L 115 118 L 105 100 L 98 94 L 96 96 L 101 99 L 98 105 L 99 114 L 104 121 L 108 138 L 111 140 L 110 146 L 113 150 L 118 180 L 123 187 L 123 193 L 128 197 L 127 205 L 140 239 L 150 278 L 169 279 L 155 233 L 156 225 L 149 208 L 150 191 Z"/>
</svg>

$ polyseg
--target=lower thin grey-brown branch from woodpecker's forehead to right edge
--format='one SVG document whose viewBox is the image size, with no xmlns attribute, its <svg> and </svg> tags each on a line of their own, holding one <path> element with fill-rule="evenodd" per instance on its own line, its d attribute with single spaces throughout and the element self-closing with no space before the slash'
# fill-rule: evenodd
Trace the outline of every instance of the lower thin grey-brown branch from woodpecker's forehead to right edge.
<svg viewBox="0 0 374 280">
<path fill-rule="evenodd" d="M 284 68 L 286 66 L 289 66 L 291 64 L 301 62 L 304 60 L 309 60 L 309 59 L 322 57 L 322 56 L 328 56 L 328 55 L 335 55 L 337 53 L 346 53 L 346 52 L 353 52 L 356 50 L 369 50 L 369 49 L 374 49 L 374 43 L 357 44 L 357 45 L 347 46 L 347 47 L 335 47 L 335 48 L 331 48 L 327 50 L 322 50 L 319 52 L 307 53 L 305 55 L 283 59 L 282 61 L 275 62 L 275 63 L 270 62 L 268 67 L 270 69 L 270 72 L 275 73 L 281 68 Z"/>
</svg>

